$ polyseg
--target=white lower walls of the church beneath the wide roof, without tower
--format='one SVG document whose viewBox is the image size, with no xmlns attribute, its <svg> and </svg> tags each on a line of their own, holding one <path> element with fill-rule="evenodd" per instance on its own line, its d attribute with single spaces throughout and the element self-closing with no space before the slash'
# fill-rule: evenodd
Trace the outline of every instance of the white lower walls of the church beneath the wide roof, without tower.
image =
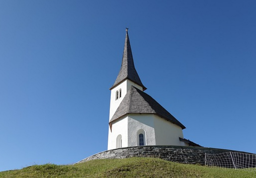
<svg viewBox="0 0 256 178">
<path fill-rule="evenodd" d="M 128 114 L 112 124 L 109 129 L 108 150 L 119 147 L 139 146 L 139 134 L 144 136 L 144 145 L 185 146 L 182 129 L 154 114 Z M 118 137 L 122 137 L 121 146 Z"/>
</svg>

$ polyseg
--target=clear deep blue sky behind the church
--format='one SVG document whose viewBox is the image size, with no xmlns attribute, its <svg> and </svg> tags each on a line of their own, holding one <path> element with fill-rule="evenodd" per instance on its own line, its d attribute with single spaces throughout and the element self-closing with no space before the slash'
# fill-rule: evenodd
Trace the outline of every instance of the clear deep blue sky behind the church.
<svg viewBox="0 0 256 178">
<path fill-rule="evenodd" d="M 205 147 L 256 153 L 256 1 L 0 1 L 0 171 L 107 150 L 125 27 L 135 67 Z"/>
</svg>

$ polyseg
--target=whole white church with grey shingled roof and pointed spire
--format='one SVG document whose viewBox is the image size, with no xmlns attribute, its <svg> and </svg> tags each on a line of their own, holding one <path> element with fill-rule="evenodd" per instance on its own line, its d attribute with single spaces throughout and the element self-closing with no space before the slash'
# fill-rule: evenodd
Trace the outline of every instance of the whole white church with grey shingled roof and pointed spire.
<svg viewBox="0 0 256 178">
<path fill-rule="evenodd" d="M 126 28 L 119 74 L 111 86 L 108 150 L 144 146 L 200 146 L 183 137 L 186 127 L 144 91 Z"/>
</svg>

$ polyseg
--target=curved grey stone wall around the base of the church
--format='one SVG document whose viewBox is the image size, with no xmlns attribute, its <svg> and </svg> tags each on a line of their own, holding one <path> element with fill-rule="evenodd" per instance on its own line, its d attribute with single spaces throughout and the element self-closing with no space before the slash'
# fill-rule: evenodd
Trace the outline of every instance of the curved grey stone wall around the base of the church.
<svg viewBox="0 0 256 178">
<path fill-rule="evenodd" d="M 135 146 L 103 151 L 87 157 L 77 163 L 82 163 L 93 159 L 155 157 L 179 163 L 204 165 L 205 153 L 218 154 L 230 151 L 232 150 L 191 146 Z M 242 151 L 232 152 L 246 153 Z"/>
</svg>

